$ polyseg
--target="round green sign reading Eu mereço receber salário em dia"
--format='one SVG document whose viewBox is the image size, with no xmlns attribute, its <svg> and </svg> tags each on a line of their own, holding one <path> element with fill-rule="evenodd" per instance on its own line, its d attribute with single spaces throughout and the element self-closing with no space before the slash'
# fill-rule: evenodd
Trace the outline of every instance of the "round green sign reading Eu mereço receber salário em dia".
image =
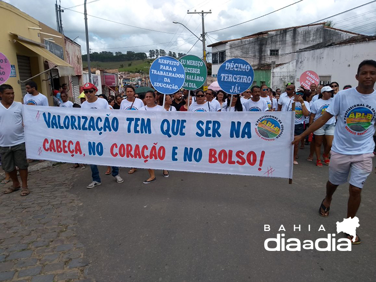
<svg viewBox="0 0 376 282">
<path fill-rule="evenodd" d="M 185 71 L 183 88 L 196 90 L 204 85 L 208 70 L 203 60 L 194 55 L 185 55 L 179 59 Z"/>
</svg>

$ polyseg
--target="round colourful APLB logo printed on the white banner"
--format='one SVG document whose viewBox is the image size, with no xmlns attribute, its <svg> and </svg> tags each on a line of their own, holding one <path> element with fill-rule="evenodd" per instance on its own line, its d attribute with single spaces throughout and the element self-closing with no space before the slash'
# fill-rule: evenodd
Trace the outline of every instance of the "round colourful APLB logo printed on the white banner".
<svg viewBox="0 0 376 282">
<path fill-rule="evenodd" d="M 262 116 L 255 124 L 256 135 L 263 140 L 274 141 L 281 137 L 283 124 L 281 120 L 272 115 Z"/>
</svg>

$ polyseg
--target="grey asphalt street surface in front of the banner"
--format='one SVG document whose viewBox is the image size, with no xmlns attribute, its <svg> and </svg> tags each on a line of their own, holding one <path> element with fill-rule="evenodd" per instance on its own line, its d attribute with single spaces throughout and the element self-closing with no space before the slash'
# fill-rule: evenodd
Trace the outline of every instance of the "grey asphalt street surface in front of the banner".
<svg viewBox="0 0 376 282">
<path fill-rule="evenodd" d="M 145 185 L 147 170 L 128 175 L 127 168 L 117 184 L 101 167 L 102 185 L 86 189 L 90 169 L 79 172 L 71 192 L 82 202 L 78 237 L 90 275 L 97 281 L 374 281 L 374 171 L 357 213 L 361 244 L 351 251 L 264 248 L 277 233 L 302 244 L 327 237 L 346 217 L 347 184 L 334 194 L 329 217 L 318 215 L 328 167 L 306 161 L 308 151 L 299 151 L 291 185 L 279 178 L 174 171 L 168 178 L 157 171 L 157 181 Z M 278 231 L 281 224 L 286 231 Z M 318 231 L 321 224 L 325 231 Z"/>
</svg>

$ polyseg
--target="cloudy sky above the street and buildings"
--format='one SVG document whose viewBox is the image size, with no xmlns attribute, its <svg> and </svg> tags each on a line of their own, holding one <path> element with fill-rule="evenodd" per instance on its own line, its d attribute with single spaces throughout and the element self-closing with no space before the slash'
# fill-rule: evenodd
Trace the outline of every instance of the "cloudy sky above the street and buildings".
<svg viewBox="0 0 376 282">
<path fill-rule="evenodd" d="M 56 29 L 55 1 L 6 0 Z M 190 52 L 202 57 L 202 43 L 197 42 L 197 38 L 182 26 L 172 23 L 180 22 L 200 37 L 201 16 L 187 15 L 187 10 L 191 12 L 212 10 L 212 14 L 207 14 L 205 17 L 205 31 L 208 32 L 207 45 L 209 45 L 212 42 L 239 38 L 264 30 L 310 24 L 370 1 L 88 0 L 90 48 L 92 52 L 134 51 L 147 54 L 150 49 L 164 49 L 166 52 L 172 51 L 176 54 Z M 76 42 L 81 45 L 82 53 L 86 54 L 83 2 L 84 0 L 61 0 L 61 6 L 70 9 L 65 9 L 62 14 L 64 34 L 71 39 L 78 37 Z M 299 3 L 237 27 L 211 32 L 257 18 L 294 2 Z M 334 22 L 336 28 L 373 35 L 376 34 L 374 15 L 376 15 L 376 2 L 329 20 Z M 208 48 L 208 51 L 210 49 Z"/>
</svg>

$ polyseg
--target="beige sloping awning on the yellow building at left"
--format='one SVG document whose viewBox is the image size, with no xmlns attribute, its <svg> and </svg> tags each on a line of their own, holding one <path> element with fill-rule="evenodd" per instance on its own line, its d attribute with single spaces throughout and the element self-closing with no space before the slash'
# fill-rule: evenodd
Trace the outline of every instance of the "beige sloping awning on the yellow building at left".
<svg viewBox="0 0 376 282">
<path fill-rule="evenodd" d="M 18 43 L 24 45 L 25 47 L 29 48 L 31 51 L 37 53 L 38 55 L 42 56 L 49 62 L 49 66 L 56 66 L 56 68 L 59 71 L 60 76 L 75 76 L 75 70 L 74 67 L 72 67 L 67 62 L 63 61 L 59 57 L 52 54 L 50 51 L 48 51 L 46 48 L 43 48 L 41 46 L 33 45 L 30 43 L 22 42 L 20 40 L 17 40 Z M 51 64 L 52 63 L 52 64 Z"/>
</svg>

